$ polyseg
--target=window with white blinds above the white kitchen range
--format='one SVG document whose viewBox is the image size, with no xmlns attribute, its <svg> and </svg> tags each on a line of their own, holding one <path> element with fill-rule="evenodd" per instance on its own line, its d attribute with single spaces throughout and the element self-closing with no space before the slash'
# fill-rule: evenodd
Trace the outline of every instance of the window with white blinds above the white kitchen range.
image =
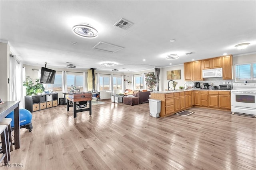
<svg viewBox="0 0 256 170">
<path fill-rule="evenodd" d="M 256 63 L 235 65 L 235 81 L 256 80 Z"/>
</svg>

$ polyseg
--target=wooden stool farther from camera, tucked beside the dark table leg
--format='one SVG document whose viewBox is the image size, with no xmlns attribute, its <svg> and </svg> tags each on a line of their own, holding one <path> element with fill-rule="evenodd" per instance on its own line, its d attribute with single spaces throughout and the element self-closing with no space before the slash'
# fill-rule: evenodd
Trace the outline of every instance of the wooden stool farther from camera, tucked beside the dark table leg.
<svg viewBox="0 0 256 170">
<path fill-rule="evenodd" d="M 0 125 L 6 125 L 6 137 L 7 137 L 7 152 L 8 152 L 8 160 L 10 161 L 10 152 L 12 152 L 12 128 L 11 128 L 11 118 L 4 118 L 2 121 L 0 121 Z"/>
</svg>

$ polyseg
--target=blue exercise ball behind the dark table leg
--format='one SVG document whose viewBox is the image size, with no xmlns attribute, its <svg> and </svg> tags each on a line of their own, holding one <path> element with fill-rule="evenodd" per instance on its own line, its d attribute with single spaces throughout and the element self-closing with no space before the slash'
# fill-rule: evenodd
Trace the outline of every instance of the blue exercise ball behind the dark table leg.
<svg viewBox="0 0 256 170">
<path fill-rule="evenodd" d="M 6 117 L 12 118 L 11 127 L 14 127 L 14 111 L 9 113 Z M 27 109 L 20 109 L 20 126 L 31 123 L 32 114 Z"/>
</svg>

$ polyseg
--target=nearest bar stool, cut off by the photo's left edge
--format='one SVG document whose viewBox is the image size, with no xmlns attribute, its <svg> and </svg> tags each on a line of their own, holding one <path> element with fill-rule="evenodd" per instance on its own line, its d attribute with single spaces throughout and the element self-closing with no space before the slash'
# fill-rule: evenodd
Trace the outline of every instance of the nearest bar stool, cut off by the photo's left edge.
<svg viewBox="0 0 256 170">
<path fill-rule="evenodd" d="M 7 143 L 8 140 L 6 140 L 6 125 L 0 125 L 0 133 L 1 133 L 1 141 L 2 141 L 2 153 L 3 155 L 0 157 L 0 163 L 4 160 L 4 165 L 8 164 L 8 151 L 7 151 Z"/>
</svg>

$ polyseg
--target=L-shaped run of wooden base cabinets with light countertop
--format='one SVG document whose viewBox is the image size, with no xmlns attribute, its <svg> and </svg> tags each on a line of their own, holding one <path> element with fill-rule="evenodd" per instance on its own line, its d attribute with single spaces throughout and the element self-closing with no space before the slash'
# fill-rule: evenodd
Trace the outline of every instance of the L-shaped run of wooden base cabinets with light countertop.
<svg viewBox="0 0 256 170">
<path fill-rule="evenodd" d="M 151 99 L 161 100 L 160 117 L 170 116 L 194 106 L 228 111 L 231 109 L 230 90 L 188 89 L 156 91 L 150 95 Z"/>
</svg>

